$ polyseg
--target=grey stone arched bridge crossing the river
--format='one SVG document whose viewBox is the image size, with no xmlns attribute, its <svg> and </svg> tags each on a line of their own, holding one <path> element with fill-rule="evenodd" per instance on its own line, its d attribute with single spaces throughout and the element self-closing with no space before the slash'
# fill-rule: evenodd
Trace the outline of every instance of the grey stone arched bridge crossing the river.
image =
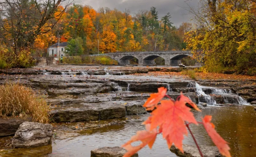
<svg viewBox="0 0 256 157">
<path fill-rule="evenodd" d="M 135 57 L 139 60 L 139 66 L 153 66 L 156 65 L 154 59 L 162 57 L 165 61 L 165 66 L 179 66 L 182 58 L 186 56 L 192 57 L 193 54 L 191 54 L 191 51 L 148 51 L 115 52 L 109 53 L 108 56 L 118 61 L 119 65 L 130 65 L 130 60 Z"/>
</svg>

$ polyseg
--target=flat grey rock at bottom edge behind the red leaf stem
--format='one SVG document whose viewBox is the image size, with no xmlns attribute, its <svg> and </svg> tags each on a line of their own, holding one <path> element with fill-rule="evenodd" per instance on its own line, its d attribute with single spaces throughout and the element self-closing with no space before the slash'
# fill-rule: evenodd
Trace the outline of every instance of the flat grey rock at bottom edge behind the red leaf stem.
<svg viewBox="0 0 256 157">
<path fill-rule="evenodd" d="M 180 150 L 176 148 L 174 145 L 172 145 L 172 147 L 170 148 L 170 151 L 180 157 L 201 157 L 196 146 L 183 144 L 182 147 L 183 147 L 184 154 L 180 152 Z M 221 156 L 216 146 L 200 146 L 200 149 L 204 157 Z"/>
</svg>

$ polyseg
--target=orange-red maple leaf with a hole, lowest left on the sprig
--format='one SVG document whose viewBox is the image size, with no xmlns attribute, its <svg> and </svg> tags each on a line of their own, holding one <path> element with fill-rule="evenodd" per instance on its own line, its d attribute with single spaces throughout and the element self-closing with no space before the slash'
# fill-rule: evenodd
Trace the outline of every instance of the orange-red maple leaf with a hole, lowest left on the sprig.
<svg viewBox="0 0 256 157">
<path fill-rule="evenodd" d="M 128 152 L 124 154 L 123 157 L 130 157 L 140 149 L 148 145 L 151 149 L 157 135 L 157 129 L 152 129 L 150 131 L 150 124 L 146 125 L 146 130 L 138 131 L 135 136 L 132 136 L 131 140 L 125 143 L 122 147 L 124 147 Z M 132 146 L 131 143 L 135 141 L 141 141 L 142 143 L 139 146 Z"/>
</svg>

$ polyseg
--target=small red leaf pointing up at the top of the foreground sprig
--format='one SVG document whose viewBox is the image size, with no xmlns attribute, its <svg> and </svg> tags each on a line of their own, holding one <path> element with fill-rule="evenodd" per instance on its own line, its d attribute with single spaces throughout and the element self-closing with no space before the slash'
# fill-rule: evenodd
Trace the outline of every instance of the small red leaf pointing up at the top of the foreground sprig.
<svg viewBox="0 0 256 157">
<path fill-rule="evenodd" d="M 164 87 L 158 88 L 158 93 L 150 94 L 150 97 L 143 105 L 148 111 L 152 111 L 155 109 L 156 105 L 159 101 L 165 96 L 167 89 Z"/>
</svg>

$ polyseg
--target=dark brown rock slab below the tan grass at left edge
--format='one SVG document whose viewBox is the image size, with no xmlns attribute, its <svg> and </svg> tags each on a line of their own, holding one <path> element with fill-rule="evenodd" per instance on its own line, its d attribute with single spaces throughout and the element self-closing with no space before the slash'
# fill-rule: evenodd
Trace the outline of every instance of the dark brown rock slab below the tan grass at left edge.
<svg viewBox="0 0 256 157">
<path fill-rule="evenodd" d="M 31 121 L 31 118 L 20 119 L 20 118 L 0 118 L 0 137 L 14 135 L 20 124 L 26 121 Z"/>
</svg>

